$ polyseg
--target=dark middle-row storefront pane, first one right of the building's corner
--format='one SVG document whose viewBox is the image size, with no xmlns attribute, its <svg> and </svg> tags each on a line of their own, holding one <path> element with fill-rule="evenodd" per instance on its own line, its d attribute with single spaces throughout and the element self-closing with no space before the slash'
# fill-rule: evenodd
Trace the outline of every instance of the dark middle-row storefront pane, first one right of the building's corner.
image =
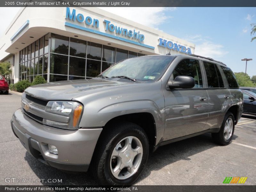
<svg viewBox="0 0 256 192">
<path fill-rule="evenodd" d="M 68 75 L 68 56 L 51 53 L 50 73 Z"/>
</svg>

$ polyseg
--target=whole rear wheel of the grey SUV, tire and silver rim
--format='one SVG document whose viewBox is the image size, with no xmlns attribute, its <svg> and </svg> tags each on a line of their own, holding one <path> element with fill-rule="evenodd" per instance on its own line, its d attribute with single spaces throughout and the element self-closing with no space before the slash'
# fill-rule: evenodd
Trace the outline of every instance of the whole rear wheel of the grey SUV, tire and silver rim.
<svg viewBox="0 0 256 192">
<path fill-rule="evenodd" d="M 228 145 L 233 137 L 235 130 L 235 118 L 233 113 L 228 112 L 222 122 L 220 131 L 218 133 L 212 133 L 212 139 L 219 145 Z"/>
</svg>

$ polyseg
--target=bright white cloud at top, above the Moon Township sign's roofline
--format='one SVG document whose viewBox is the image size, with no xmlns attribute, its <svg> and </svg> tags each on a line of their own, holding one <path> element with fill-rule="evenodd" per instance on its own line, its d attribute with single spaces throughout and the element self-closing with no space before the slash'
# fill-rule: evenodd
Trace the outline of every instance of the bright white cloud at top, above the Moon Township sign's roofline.
<svg viewBox="0 0 256 192">
<path fill-rule="evenodd" d="M 135 21 L 148 27 L 157 28 L 160 24 L 172 19 L 166 12 L 175 11 L 176 7 L 99 7 L 108 12 L 115 13 L 126 19 Z"/>
</svg>

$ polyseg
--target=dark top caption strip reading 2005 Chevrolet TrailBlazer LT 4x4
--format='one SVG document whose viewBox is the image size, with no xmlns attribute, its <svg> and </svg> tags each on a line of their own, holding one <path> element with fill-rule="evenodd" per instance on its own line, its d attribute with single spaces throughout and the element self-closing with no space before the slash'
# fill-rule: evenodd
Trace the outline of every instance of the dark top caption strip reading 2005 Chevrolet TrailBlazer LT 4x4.
<svg viewBox="0 0 256 192">
<path fill-rule="evenodd" d="M 1 0 L 1 7 L 255 7 L 255 0 Z"/>
</svg>

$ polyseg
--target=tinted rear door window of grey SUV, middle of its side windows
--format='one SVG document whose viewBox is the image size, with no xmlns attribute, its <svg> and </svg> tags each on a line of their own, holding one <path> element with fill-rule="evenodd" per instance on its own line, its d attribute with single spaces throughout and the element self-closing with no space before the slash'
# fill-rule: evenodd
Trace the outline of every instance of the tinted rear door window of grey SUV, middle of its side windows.
<svg viewBox="0 0 256 192">
<path fill-rule="evenodd" d="M 216 64 L 204 61 L 204 68 L 209 88 L 224 87 L 224 83 L 220 75 L 219 68 Z"/>
</svg>

